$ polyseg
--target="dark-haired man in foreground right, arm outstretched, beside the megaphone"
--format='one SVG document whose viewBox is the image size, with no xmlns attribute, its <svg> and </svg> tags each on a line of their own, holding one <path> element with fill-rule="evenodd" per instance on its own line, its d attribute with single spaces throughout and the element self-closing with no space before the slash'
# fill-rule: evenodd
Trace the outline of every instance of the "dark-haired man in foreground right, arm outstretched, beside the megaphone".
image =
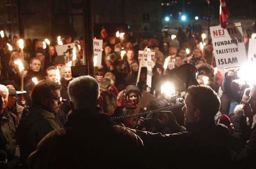
<svg viewBox="0 0 256 169">
<path fill-rule="evenodd" d="M 149 168 L 228 169 L 229 131 L 214 122 L 219 106 L 211 88 L 190 86 L 182 109 L 187 132 L 161 135 L 133 130 L 144 141 L 144 164 Z"/>
</svg>

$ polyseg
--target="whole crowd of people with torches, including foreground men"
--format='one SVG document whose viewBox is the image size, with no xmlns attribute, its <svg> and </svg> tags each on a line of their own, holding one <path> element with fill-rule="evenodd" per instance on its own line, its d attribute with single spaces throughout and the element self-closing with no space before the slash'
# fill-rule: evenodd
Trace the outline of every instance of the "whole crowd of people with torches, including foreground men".
<svg viewBox="0 0 256 169">
<path fill-rule="evenodd" d="M 0 168 L 255 168 L 256 86 L 239 85 L 235 69 L 214 72 L 212 45 L 202 50 L 181 29 L 177 39 L 179 47 L 160 35 L 108 37 L 95 74 L 76 78 L 72 50 L 65 58 L 39 39 L 26 39 L 22 50 L 18 37 L 2 39 Z M 75 42 L 75 66 L 83 65 L 84 43 Z M 154 53 L 150 62 L 139 54 L 145 48 Z M 111 120 L 175 104 L 161 86 L 184 64 L 197 68 L 201 86 L 176 92 L 185 99 L 182 109 Z M 154 99 L 139 106 L 144 95 Z"/>
</svg>

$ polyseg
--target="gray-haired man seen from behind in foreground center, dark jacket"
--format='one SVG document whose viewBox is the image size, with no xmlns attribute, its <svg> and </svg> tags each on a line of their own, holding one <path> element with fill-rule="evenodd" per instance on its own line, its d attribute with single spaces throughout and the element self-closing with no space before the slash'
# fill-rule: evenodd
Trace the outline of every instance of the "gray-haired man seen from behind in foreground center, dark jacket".
<svg viewBox="0 0 256 169">
<path fill-rule="evenodd" d="M 65 127 L 38 143 L 27 159 L 30 169 L 139 168 L 139 160 L 134 159 L 140 158 L 143 142 L 103 113 L 96 79 L 73 79 L 68 94 L 72 112 Z"/>
</svg>

